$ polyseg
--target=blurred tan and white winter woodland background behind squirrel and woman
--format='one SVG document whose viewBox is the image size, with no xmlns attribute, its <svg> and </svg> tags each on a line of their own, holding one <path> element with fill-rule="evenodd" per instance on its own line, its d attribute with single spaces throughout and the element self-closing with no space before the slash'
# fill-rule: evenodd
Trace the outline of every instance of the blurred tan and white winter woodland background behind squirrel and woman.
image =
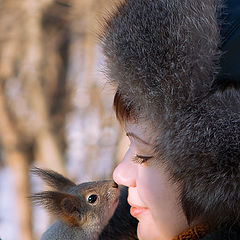
<svg viewBox="0 0 240 240">
<path fill-rule="evenodd" d="M 113 4 L 114 3 L 114 4 Z M 0 0 L 0 238 L 37 240 L 33 166 L 81 183 L 111 178 L 127 140 L 98 40 L 119 0 Z"/>
</svg>

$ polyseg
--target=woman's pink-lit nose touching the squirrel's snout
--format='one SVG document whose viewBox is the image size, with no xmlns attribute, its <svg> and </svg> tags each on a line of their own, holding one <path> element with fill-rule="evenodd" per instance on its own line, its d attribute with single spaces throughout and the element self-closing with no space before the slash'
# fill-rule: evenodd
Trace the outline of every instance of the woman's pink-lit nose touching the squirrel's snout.
<svg viewBox="0 0 240 240">
<path fill-rule="evenodd" d="M 129 154 L 126 153 L 123 161 L 115 168 L 113 179 L 119 185 L 127 187 L 136 186 L 136 164 L 129 159 Z"/>
</svg>

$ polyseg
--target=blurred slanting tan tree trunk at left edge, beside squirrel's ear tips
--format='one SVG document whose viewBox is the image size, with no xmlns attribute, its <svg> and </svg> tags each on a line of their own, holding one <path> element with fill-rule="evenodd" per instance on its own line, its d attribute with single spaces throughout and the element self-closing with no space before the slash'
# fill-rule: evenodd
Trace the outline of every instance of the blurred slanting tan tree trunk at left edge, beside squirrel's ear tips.
<svg viewBox="0 0 240 240">
<path fill-rule="evenodd" d="M 0 82 L 0 133 L 5 158 L 12 169 L 16 190 L 17 218 L 20 226 L 20 240 L 32 240 L 32 211 L 27 197 L 29 191 L 29 161 L 21 148 L 21 140 L 16 135 L 14 127 L 8 117 L 4 94 Z"/>
</svg>

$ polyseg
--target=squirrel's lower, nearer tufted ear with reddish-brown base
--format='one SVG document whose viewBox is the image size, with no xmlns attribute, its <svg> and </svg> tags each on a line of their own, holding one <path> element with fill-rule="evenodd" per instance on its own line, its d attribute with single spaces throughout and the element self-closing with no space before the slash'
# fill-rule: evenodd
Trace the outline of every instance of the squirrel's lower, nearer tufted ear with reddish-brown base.
<svg viewBox="0 0 240 240">
<path fill-rule="evenodd" d="M 68 193 L 45 191 L 30 196 L 33 203 L 45 207 L 49 213 L 69 226 L 81 226 L 85 222 L 80 199 Z"/>
</svg>

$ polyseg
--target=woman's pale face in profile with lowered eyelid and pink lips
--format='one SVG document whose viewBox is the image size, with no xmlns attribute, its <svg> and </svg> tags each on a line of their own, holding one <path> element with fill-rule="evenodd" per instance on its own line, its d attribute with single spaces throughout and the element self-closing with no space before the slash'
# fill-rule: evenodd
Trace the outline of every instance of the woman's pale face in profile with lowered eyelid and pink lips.
<svg viewBox="0 0 240 240">
<path fill-rule="evenodd" d="M 149 124 L 127 123 L 130 146 L 123 161 L 114 170 L 113 178 L 129 187 L 130 213 L 139 220 L 140 240 L 170 240 L 188 229 L 178 204 L 177 186 L 170 182 L 164 167 L 154 162 L 154 131 Z"/>
</svg>

